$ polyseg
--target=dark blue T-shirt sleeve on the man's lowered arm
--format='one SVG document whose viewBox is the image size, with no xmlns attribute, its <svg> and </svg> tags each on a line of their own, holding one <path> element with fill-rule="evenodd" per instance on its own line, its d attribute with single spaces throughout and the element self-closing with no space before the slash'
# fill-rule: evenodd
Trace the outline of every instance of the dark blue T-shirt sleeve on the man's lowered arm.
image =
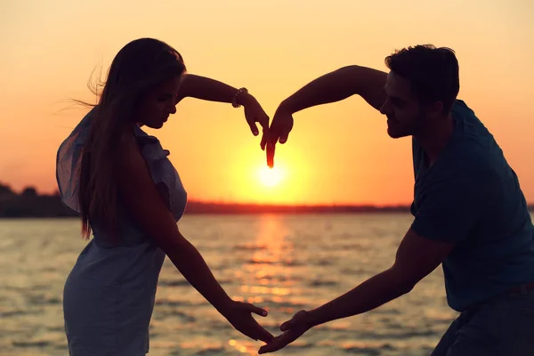
<svg viewBox="0 0 534 356">
<path fill-rule="evenodd" d="M 471 174 L 463 178 L 448 174 L 447 178 L 426 185 L 411 229 L 426 239 L 456 243 L 473 231 L 488 198 L 483 179 L 474 179 Z"/>
</svg>

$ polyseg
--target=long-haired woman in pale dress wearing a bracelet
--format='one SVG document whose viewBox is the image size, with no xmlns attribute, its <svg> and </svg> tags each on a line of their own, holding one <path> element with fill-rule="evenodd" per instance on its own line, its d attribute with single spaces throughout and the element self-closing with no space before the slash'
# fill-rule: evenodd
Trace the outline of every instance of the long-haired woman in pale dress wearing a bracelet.
<svg viewBox="0 0 534 356">
<path fill-rule="evenodd" d="M 180 53 L 151 38 L 126 44 L 113 60 L 98 104 L 61 144 L 57 180 L 63 202 L 81 214 L 89 239 L 64 287 L 71 356 L 140 356 L 165 256 L 231 325 L 255 340 L 273 338 L 252 312 L 232 301 L 197 249 L 178 230 L 186 206 L 179 175 L 153 136 L 175 105 L 190 96 L 243 105 L 247 122 L 269 118 L 247 90 L 185 73 Z"/>
</svg>

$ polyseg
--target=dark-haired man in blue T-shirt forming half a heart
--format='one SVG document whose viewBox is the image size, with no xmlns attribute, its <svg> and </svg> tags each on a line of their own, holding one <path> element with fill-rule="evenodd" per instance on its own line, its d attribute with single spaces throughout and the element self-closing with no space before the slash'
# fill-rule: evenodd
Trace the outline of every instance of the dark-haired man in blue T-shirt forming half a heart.
<svg viewBox="0 0 534 356">
<path fill-rule="evenodd" d="M 534 354 L 534 229 L 514 170 L 459 91 L 449 48 L 409 47 L 386 57 L 389 73 L 350 66 L 283 101 L 267 133 L 267 160 L 287 142 L 292 114 L 359 94 L 387 117 L 392 138 L 412 136 L 415 219 L 391 268 L 311 311 L 297 312 L 260 353 L 310 328 L 368 312 L 412 290 L 442 263 L 449 306 L 461 312 L 433 351 Z"/>
</svg>

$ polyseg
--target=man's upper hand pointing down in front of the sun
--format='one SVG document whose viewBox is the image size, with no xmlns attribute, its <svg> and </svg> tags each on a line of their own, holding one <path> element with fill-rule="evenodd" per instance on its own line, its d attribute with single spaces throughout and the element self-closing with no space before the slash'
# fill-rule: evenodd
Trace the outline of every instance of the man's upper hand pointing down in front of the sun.
<svg viewBox="0 0 534 356">
<path fill-rule="evenodd" d="M 267 145 L 267 166 L 274 166 L 274 150 L 278 142 L 284 144 L 287 142 L 287 136 L 293 128 L 293 113 L 280 104 L 272 117 L 271 127 L 267 132 L 267 137 L 263 134 L 262 150 Z"/>
</svg>

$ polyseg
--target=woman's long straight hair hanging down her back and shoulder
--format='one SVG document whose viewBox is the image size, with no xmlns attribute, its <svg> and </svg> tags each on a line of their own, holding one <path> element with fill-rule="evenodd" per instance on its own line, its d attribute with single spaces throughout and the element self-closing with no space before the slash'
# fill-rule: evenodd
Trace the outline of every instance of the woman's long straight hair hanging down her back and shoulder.
<svg viewBox="0 0 534 356">
<path fill-rule="evenodd" d="M 82 235 L 89 239 L 91 223 L 118 239 L 117 178 L 114 151 L 126 122 L 134 123 L 135 109 L 159 83 L 182 76 L 182 55 L 153 38 L 136 39 L 116 55 L 98 103 L 82 153 L 77 191 Z M 95 93 L 98 95 L 98 93 Z"/>
</svg>

